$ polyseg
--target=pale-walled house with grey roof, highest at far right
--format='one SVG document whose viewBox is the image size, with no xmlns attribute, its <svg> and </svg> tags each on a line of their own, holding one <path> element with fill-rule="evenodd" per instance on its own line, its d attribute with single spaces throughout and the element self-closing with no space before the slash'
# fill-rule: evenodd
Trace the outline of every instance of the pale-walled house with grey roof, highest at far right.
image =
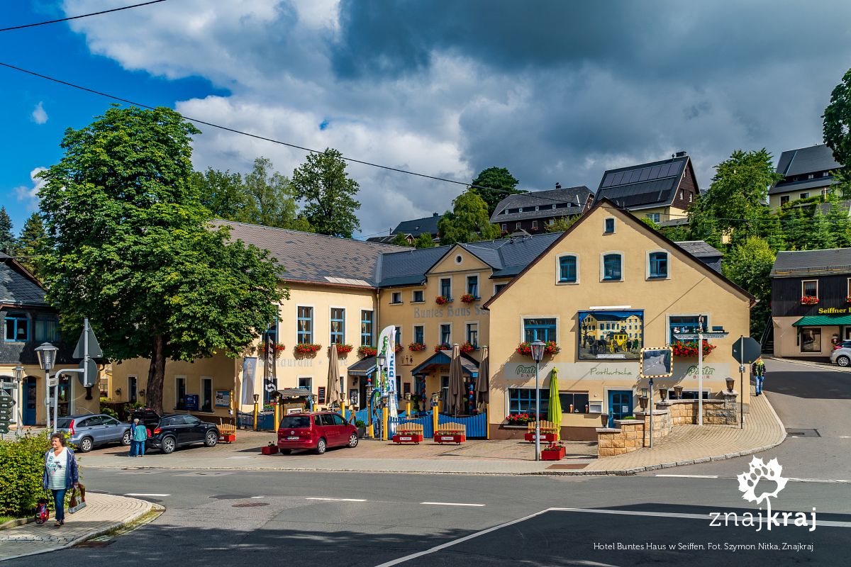
<svg viewBox="0 0 851 567">
<path fill-rule="evenodd" d="M 776 210 L 802 199 L 827 196 L 837 183 L 833 172 L 841 168 L 824 144 L 784 151 L 777 161 L 777 173 L 783 179 L 768 189 L 768 206 Z"/>
</svg>

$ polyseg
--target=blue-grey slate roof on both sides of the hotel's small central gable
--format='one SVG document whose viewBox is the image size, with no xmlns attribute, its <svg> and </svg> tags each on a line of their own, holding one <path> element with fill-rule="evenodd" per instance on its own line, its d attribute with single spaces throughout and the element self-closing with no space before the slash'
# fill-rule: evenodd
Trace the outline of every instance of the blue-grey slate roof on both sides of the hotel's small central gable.
<svg viewBox="0 0 851 567">
<path fill-rule="evenodd" d="M 494 269 L 492 278 L 511 277 L 519 274 L 561 234 L 553 232 L 524 238 L 471 242 L 459 246 Z M 428 270 L 451 249 L 451 246 L 443 246 L 382 254 L 380 272 L 376 280 L 381 287 L 420 284 L 426 280 Z"/>
</svg>

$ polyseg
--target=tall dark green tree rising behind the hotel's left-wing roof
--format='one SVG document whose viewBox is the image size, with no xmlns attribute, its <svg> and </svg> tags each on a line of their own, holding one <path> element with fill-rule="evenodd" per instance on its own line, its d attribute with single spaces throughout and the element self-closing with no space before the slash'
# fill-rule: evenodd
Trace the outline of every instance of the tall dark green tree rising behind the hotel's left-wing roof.
<svg viewBox="0 0 851 567">
<path fill-rule="evenodd" d="M 326 148 L 310 154 L 293 172 L 295 195 L 305 202 L 305 218 L 321 235 L 351 238 L 361 224 L 355 211 L 360 186 L 346 173 L 346 162 L 338 150 Z"/>
</svg>

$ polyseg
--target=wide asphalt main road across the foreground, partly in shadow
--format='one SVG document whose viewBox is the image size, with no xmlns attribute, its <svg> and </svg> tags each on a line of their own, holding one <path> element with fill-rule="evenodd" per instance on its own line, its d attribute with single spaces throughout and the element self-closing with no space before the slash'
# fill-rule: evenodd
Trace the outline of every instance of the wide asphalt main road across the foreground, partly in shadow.
<svg viewBox="0 0 851 567">
<path fill-rule="evenodd" d="M 816 529 L 769 532 L 762 524 L 759 531 L 733 525 L 732 516 L 726 527 L 711 525 L 713 512 L 735 512 L 741 522 L 746 511 L 759 512 L 730 479 L 89 468 L 87 480 L 115 494 L 150 495 L 138 497 L 167 511 L 106 547 L 77 547 L 38 561 L 64 567 L 845 565 L 851 548 L 851 489 L 837 484 L 790 482 L 773 499 L 775 511 L 816 507 Z M 33 559 L 6 564 L 30 567 Z"/>
</svg>

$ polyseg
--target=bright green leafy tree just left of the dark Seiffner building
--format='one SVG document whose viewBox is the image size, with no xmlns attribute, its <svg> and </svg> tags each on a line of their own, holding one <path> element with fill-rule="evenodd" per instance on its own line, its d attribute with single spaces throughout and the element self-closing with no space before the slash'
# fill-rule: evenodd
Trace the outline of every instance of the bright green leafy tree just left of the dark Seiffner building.
<svg viewBox="0 0 851 567">
<path fill-rule="evenodd" d="M 758 236 L 749 236 L 731 247 L 722 264 L 730 281 L 751 292 L 757 304 L 751 309 L 751 337 L 759 337 L 771 314 L 771 269 L 774 251 Z"/>
</svg>

